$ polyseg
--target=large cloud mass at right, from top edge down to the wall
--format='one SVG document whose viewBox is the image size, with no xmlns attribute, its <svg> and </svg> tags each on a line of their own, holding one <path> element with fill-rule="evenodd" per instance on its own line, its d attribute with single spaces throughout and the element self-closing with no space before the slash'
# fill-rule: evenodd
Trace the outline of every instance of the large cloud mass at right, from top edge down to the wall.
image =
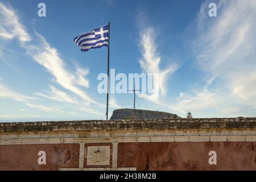
<svg viewBox="0 0 256 182">
<path fill-rule="evenodd" d="M 209 17 L 204 1 L 195 21 L 192 50 L 196 63 L 209 78 L 203 89 L 180 93 L 172 109 L 192 109 L 200 116 L 207 110 L 223 115 L 244 115 L 256 108 L 256 2 L 217 1 L 217 17 Z M 217 86 L 208 86 L 217 81 Z M 230 116 L 229 115 L 229 116 Z"/>
</svg>

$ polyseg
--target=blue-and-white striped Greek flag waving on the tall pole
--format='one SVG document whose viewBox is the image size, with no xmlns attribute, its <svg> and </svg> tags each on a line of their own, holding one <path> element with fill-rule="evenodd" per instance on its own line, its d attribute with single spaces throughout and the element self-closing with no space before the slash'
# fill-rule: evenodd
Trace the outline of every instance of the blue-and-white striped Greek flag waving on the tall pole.
<svg viewBox="0 0 256 182">
<path fill-rule="evenodd" d="M 93 29 L 90 32 L 81 34 L 74 38 L 75 44 L 81 47 L 81 51 L 89 49 L 108 47 L 109 44 L 109 26 Z"/>
</svg>

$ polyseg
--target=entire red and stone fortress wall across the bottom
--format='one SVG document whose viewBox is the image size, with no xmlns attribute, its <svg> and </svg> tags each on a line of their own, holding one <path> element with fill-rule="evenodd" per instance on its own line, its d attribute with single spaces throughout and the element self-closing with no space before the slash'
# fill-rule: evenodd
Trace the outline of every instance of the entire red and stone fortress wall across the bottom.
<svg viewBox="0 0 256 182">
<path fill-rule="evenodd" d="M 0 123 L 0 169 L 255 170 L 256 118 Z"/>
</svg>

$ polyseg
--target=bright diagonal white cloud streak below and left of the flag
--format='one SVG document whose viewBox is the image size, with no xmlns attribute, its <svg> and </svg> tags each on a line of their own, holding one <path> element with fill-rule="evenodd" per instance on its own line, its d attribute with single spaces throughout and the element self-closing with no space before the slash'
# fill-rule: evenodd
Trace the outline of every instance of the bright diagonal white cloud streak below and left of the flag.
<svg viewBox="0 0 256 182">
<path fill-rule="evenodd" d="M 51 47 L 42 35 L 39 35 L 38 33 L 36 33 L 36 35 L 39 44 L 36 46 L 28 45 L 26 47 L 28 55 L 31 55 L 36 63 L 43 65 L 43 67 L 55 77 L 55 81 L 63 86 L 63 88 L 77 94 L 86 102 L 101 105 L 76 86 L 89 86 L 88 81 L 82 77 L 86 75 L 84 69 L 79 70 L 79 77 L 73 75 L 65 68 L 64 61 L 60 58 L 57 49 Z"/>
</svg>

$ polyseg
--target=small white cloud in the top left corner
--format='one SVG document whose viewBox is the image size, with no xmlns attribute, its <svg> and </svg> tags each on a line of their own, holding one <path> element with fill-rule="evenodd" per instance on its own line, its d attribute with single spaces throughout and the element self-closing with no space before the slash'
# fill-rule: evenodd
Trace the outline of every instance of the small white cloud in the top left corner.
<svg viewBox="0 0 256 182">
<path fill-rule="evenodd" d="M 18 38 L 21 43 L 31 40 L 30 35 L 24 30 L 16 12 L 9 5 L 5 6 L 0 2 L 0 37 L 3 39 Z"/>
</svg>

